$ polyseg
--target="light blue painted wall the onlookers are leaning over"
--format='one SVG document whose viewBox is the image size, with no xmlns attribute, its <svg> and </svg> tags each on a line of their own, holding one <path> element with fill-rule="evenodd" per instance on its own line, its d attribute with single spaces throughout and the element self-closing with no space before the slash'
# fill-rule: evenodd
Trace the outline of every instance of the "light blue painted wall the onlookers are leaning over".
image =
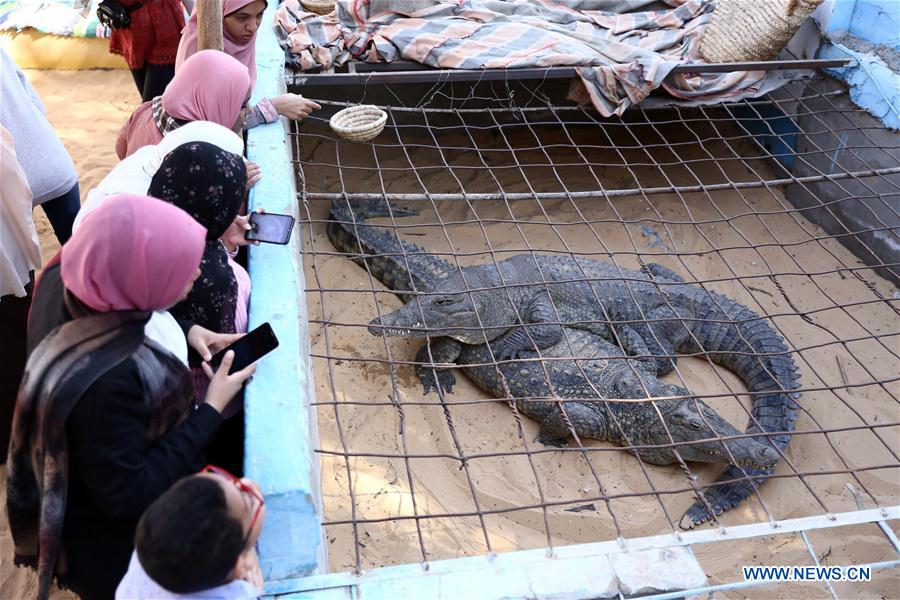
<svg viewBox="0 0 900 600">
<path fill-rule="evenodd" d="M 273 23 L 277 2 L 263 17 Z M 284 93 L 284 51 L 272 27 L 257 39 L 257 83 L 252 101 Z M 291 152 L 282 121 L 251 129 L 247 156 L 263 170 L 250 194 L 250 208 L 293 215 L 298 225 L 289 244 L 250 247 L 250 327 L 266 321 L 279 340 L 259 362 L 245 396 L 245 472 L 262 486 L 267 517 L 260 559 L 267 581 L 320 572 L 324 561 L 320 523 L 321 486 L 303 271 L 302 239 Z"/>
</svg>

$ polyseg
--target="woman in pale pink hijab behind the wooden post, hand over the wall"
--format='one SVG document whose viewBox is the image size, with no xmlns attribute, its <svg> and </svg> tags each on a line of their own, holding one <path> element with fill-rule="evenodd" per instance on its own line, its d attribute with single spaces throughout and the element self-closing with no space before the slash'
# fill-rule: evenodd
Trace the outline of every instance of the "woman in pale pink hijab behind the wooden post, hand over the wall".
<svg viewBox="0 0 900 600">
<path fill-rule="evenodd" d="M 266 0 L 222 1 L 222 37 L 225 42 L 225 53 L 247 66 L 252 85 L 256 85 L 256 32 L 262 22 L 266 6 Z M 197 37 L 197 7 L 194 5 L 191 18 L 178 44 L 176 73 L 185 61 L 197 52 Z M 271 123 L 278 119 L 279 115 L 300 121 L 319 108 L 321 107 L 318 104 L 299 94 L 263 98 L 250 109 L 244 126 L 249 129 L 262 123 Z"/>
</svg>

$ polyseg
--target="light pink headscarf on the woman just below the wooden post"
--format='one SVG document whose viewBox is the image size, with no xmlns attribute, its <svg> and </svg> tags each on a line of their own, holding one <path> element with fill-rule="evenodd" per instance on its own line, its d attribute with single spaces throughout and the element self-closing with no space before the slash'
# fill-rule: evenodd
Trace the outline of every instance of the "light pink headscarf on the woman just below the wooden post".
<svg viewBox="0 0 900 600">
<path fill-rule="evenodd" d="M 182 121 L 212 121 L 231 129 L 250 89 L 247 67 L 218 50 L 203 50 L 181 65 L 162 105 Z"/>
</svg>

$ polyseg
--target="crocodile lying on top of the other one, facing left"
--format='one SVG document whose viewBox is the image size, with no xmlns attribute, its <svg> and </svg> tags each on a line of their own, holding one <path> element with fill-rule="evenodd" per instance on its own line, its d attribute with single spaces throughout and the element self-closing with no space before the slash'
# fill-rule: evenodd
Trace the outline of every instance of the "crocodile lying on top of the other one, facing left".
<svg viewBox="0 0 900 600">
<path fill-rule="evenodd" d="M 375 335 L 449 336 L 490 343 L 509 360 L 559 343 L 563 327 L 621 346 L 658 375 L 674 368 L 676 352 L 700 354 L 734 372 L 753 395 L 748 434 L 781 455 L 797 419 L 799 372 L 787 345 L 748 307 L 684 283 L 661 265 L 645 271 L 578 256 L 519 254 L 502 262 L 455 269 L 414 302 L 374 319 Z M 774 468 L 731 465 L 706 492 L 720 513 L 735 506 Z M 683 527 L 709 520 L 702 503 Z"/>
</svg>

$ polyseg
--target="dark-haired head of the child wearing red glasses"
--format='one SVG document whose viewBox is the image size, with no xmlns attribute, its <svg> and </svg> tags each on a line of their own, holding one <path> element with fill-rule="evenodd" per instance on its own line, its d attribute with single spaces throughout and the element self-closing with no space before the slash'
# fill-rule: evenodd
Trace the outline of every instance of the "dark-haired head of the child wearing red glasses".
<svg viewBox="0 0 900 600">
<path fill-rule="evenodd" d="M 255 483 L 207 467 L 173 485 L 141 517 L 138 559 L 170 592 L 213 588 L 241 576 L 241 559 L 256 545 L 264 517 Z"/>
</svg>

